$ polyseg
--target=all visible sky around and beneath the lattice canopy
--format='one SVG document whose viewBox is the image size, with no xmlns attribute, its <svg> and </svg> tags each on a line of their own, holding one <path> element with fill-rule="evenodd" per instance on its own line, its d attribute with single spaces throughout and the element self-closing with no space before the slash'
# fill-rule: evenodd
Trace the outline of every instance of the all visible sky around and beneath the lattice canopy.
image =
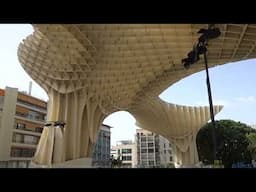
<svg viewBox="0 0 256 192">
<path fill-rule="evenodd" d="M 33 32 L 27 24 L 0 24 L 0 88 L 16 87 L 27 91 L 32 81 L 32 95 L 45 101 L 48 96 L 24 71 L 17 57 L 22 39 Z M 215 116 L 247 124 L 256 124 L 256 59 L 228 63 L 209 69 L 214 105 L 224 105 Z M 160 94 L 164 101 L 191 106 L 208 105 L 205 71 L 190 75 Z M 112 126 L 111 144 L 134 140 L 135 118 L 125 111 L 109 115 L 103 123 Z"/>
</svg>

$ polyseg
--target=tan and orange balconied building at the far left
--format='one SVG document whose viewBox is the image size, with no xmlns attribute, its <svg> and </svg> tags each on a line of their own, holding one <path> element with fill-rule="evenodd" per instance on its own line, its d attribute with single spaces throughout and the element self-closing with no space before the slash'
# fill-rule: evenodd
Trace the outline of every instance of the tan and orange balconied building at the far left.
<svg viewBox="0 0 256 192">
<path fill-rule="evenodd" d="M 47 102 L 17 88 L 0 89 L 0 167 L 28 167 L 46 114 Z"/>
</svg>

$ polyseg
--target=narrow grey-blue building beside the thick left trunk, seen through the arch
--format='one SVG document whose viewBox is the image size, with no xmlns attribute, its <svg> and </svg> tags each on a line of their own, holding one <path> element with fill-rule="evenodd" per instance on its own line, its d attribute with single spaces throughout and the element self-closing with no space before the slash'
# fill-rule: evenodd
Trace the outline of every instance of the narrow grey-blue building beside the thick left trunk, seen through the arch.
<svg viewBox="0 0 256 192">
<path fill-rule="evenodd" d="M 93 167 L 111 167 L 110 160 L 110 126 L 102 124 L 97 142 L 93 150 L 92 166 Z"/>
</svg>

